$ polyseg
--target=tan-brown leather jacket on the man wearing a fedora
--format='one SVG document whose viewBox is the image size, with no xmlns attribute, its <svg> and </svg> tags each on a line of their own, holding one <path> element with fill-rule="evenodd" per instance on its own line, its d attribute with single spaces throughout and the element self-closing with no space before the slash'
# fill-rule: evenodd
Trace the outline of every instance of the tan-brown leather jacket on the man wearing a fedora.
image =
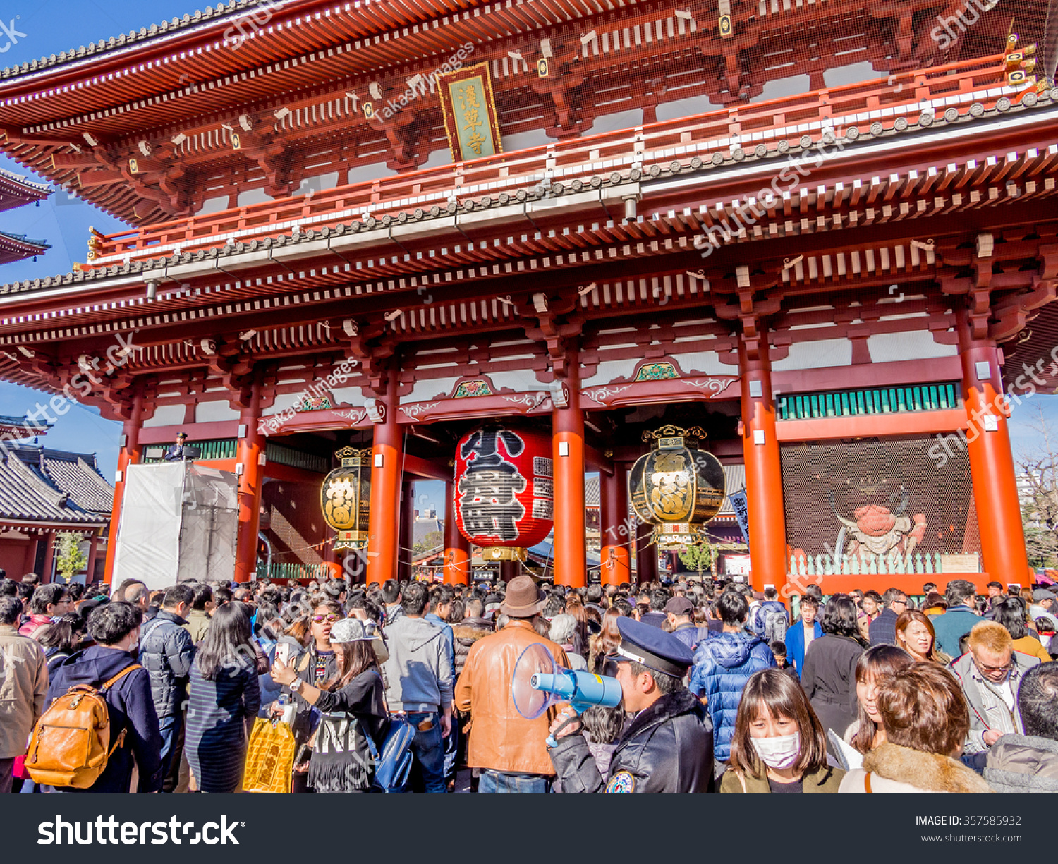
<svg viewBox="0 0 1058 864">
<path fill-rule="evenodd" d="M 514 664 L 533 642 L 547 646 L 560 665 L 569 665 L 562 648 L 541 637 L 532 624 L 522 619 L 511 619 L 499 632 L 479 639 L 467 655 L 456 684 L 455 705 L 471 715 L 467 750 L 467 764 L 471 768 L 554 774 L 544 741 L 557 707 L 535 720 L 526 720 L 511 697 Z"/>
</svg>

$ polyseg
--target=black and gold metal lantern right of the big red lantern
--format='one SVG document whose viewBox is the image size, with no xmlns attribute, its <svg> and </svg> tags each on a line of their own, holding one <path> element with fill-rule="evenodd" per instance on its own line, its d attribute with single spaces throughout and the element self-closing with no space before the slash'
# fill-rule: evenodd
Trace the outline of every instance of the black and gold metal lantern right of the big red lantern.
<svg viewBox="0 0 1058 864">
<path fill-rule="evenodd" d="M 632 466 L 628 497 L 644 522 L 654 526 L 654 539 L 663 547 L 705 539 L 705 525 L 724 503 L 724 466 L 698 448 L 705 429 L 662 426 L 644 431 L 654 448 Z"/>
</svg>

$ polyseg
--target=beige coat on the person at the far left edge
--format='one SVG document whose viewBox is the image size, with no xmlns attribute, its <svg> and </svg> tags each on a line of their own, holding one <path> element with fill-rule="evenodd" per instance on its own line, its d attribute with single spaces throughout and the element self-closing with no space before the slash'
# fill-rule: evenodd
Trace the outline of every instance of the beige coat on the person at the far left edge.
<svg viewBox="0 0 1058 864">
<path fill-rule="evenodd" d="M 43 649 L 14 627 L 0 626 L 0 759 L 25 755 L 47 695 Z"/>
</svg>

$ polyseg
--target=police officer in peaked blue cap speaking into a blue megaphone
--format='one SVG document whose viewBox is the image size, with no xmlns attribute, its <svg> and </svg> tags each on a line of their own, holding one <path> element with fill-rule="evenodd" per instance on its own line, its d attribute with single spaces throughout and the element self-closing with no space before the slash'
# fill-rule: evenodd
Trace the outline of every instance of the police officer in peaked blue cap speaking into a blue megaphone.
<svg viewBox="0 0 1058 864">
<path fill-rule="evenodd" d="M 609 659 L 632 723 L 617 741 L 603 778 L 580 721 L 565 709 L 551 724 L 549 748 L 563 792 L 711 792 L 713 727 L 683 685 L 694 662 L 691 649 L 671 633 L 619 618 L 621 644 Z"/>
</svg>

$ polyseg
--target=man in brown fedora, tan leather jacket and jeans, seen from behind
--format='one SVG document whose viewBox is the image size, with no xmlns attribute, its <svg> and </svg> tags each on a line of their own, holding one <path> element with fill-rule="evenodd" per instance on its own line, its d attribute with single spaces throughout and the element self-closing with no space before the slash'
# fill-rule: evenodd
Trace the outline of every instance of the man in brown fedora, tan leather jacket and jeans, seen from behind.
<svg viewBox="0 0 1058 864">
<path fill-rule="evenodd" d="M 545 739 L 555 709 L 527 720 L 511 697 L 514 664 L 529 645 L 546 646 L 559 665 L 569 666 L 566 652 L 533 628 L 545 601 L 531 576 L 511 580 L 499 608 L 507 625 L 471 646 L 456 684 L 456 707 L 471 715 L 467 764 L 482 770 L 479 792 L 547 792 L 554 779 Z"/>
</svg>

